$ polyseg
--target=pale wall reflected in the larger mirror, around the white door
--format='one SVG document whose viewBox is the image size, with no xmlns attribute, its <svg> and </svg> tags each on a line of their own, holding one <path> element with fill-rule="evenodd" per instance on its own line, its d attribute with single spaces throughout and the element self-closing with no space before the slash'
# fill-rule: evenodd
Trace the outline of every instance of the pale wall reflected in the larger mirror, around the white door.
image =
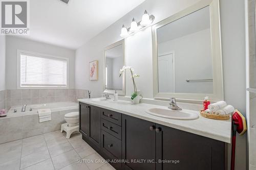
<svg viewBox="0 0 256 170">
<path fill-rule="evenodd" d="M 206 29 L 158 44 L 158 55 L 174 51 L 175 92 L 213 93 L 212 82 L 188 83 L 185 81 L 187 79 L 212 79 L 210 43 L 210 29 Z M 173 73 L 173 70 L 170 72 Z"/>
</svg>

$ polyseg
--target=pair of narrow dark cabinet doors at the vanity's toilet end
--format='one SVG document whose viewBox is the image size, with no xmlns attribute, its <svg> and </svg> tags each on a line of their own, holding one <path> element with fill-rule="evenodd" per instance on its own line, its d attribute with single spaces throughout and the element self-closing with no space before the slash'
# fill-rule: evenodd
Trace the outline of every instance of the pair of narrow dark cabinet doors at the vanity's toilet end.
<svg viewBox="0 0 256 170">
<path fill-rule="evenodd" d="M 79 103 L 79 131 L 83 138 L 100 148 L 100 115 L 101 108 Z M 89 140 L 89 141 L 88 141 Z"/>
</svg>

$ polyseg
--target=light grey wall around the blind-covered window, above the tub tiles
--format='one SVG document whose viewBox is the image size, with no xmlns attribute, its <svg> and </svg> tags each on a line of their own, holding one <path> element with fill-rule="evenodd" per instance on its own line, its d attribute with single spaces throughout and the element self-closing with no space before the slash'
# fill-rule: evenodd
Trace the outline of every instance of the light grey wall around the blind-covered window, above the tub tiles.
<svg viewBox="0 0 256 170">
<path fill-rule="evenodd" d="M 69 58 L 69 88 L 75 82 L 75 51 L 14 36 L 6 37 L 6 89 L 17 89 L 17 49 Z"/>
</svg>

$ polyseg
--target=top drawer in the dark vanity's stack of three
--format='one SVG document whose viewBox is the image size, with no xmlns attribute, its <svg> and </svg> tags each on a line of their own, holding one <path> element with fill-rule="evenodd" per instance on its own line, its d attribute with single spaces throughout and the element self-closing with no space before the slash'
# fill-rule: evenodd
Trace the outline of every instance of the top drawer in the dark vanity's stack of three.
<svg viewBox="0 0 256 170">
<path fill-rule="evenodd" d="M 111 110 L 102 109 L 101 118 L 109 120 L 110 122 L 121 126 L 122 114 Z"/>
</svg>

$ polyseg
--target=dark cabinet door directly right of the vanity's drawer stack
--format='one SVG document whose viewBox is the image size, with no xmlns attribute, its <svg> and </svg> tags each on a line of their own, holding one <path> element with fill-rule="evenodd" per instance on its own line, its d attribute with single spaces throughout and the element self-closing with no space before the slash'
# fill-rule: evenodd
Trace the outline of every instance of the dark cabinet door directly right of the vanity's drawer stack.
<svg viewBox="0 0 256 170">
<path fill-rule="evenodd" d="M 124 169 L 153 170 L 156 168 L 154 163 L 156 132 L 152 129 L 153 127 L 155 123 L 122 115 L 122 159 L 127 160 L 123 163 Z"/>
</svg>

